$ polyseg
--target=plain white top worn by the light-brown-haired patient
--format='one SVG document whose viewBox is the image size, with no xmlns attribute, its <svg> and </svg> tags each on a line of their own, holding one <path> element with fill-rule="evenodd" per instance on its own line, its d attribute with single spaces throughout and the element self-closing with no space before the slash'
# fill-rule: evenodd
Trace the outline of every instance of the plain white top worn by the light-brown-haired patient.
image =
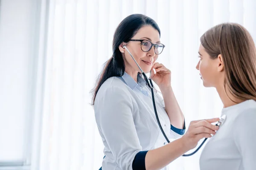
<svg viewBox="0 0 256 170">
<path fill-rule="evenodd" d="M 201 170 L 256 170 L 256 102 L 224 108 L 225 122 L 200 157 Z"/>
</svg>

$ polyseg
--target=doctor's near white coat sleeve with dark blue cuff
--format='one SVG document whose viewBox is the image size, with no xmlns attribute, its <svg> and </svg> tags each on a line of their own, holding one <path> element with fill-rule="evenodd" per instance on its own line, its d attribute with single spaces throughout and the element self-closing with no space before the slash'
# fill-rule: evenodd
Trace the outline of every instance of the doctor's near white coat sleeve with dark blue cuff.
<svg viewBox="0 0 256 170">
<path fill-rule="evenodd" d="M 96 123 L 120 169 L 145 169 L 142 151 L 134 125 L 134 103 L 128 92 L 120 87 L 99 91 L 94 105 Z"/>
</svg>

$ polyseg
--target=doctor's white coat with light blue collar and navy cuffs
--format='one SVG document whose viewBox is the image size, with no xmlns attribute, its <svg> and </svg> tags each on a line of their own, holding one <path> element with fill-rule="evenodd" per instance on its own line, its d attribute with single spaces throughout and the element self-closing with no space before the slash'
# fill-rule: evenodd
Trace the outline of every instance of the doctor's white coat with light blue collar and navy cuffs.
<svg viewBox="0 0 256 170">
<path fill-rule="evenodd" d="M 157 91 L 154 95 L 166 136 L 181 137 L 185 127 L 177 129 L 170 124 L 163 96 Z M 145 166 L 146 152 L 167 144 L 157 124 L 151 90 L 140 75 L 137 82 L 127 73 L 107 79 L 96 95 L 94 110 L 105 146 L 102 170 L 134 170 L 136 166 Z"/>
</svg>

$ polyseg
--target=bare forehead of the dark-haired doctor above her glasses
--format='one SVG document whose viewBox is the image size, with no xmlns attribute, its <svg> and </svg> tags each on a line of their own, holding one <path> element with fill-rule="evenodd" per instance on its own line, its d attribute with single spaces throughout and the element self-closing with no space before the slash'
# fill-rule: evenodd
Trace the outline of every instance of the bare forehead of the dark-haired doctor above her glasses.
<svg viewBox="0 0 256 170">
<path fill-rule="evenodd" d="M 159 32 L 152 26 L 143 26 L 132 39 L 149 40 L 153 43 L 160 42 Z"/>
</svg>

